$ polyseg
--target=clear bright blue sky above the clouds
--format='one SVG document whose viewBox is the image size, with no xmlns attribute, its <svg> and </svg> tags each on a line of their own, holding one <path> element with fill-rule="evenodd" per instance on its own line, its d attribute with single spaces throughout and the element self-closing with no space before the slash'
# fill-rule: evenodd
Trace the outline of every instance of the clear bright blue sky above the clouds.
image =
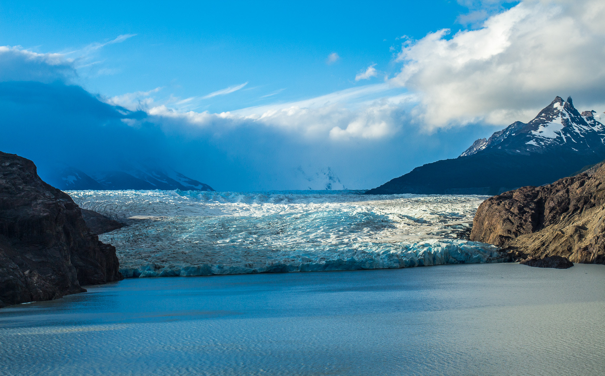
<svg viewBox="0 0 605 376">
<path fill-rule="evenodd" d="M 79 58 L 79 82 L 105 96 L 161 87 L 160 96 L 187 98 L 247 82 L 195 108 L 222 112 L 381 81 L 399 68 L 401 36 L 456 31 L 465 11 L 442 0 L 2 2 L 0 34 L 4 45 Z M 120 35 L 131 37 L 90 48 Z M 327 62 L 333 53 L 338 59 Z M 378 77 L 356 82 L 372 64 Z"/>
</svg>

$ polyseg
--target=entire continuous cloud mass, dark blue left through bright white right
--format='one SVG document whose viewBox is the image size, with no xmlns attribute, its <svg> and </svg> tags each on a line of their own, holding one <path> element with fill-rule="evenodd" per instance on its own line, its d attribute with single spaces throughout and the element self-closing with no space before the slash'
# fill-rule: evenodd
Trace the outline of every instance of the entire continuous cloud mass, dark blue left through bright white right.
<svg viewBox="0 0 605 376">
<path fill-rule="evenodd" d="M 219 114 L 192 103 L 247 83 L 188 99 L 163 88 L 106 98 L 80 86 L 65 54 L 0 47 L 0 150 L 42 169 L 164 165 L 218 190 L 306 189 L 304 177 L 328 167 L 345 187 L 369 188 L 456 157 L 555 95 L 605 110 L 604 19 L 599 1 L 522 2 L 474 30 L 405 42 L 401 70 L 382 83 Z M 358 74 L 376 75 L 374 65 Z"/>
</svg>

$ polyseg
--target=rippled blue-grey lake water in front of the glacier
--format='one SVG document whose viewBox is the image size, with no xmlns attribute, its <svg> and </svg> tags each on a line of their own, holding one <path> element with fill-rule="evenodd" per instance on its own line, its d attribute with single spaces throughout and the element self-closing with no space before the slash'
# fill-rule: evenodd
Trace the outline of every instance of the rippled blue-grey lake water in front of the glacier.
<svg viewBox="0 0 605 376">
<path fill-rule="evenodd" d="M 605 266 L 125 279 L 0 310 L 0 374 L 603 375 Z"/>
</svg>

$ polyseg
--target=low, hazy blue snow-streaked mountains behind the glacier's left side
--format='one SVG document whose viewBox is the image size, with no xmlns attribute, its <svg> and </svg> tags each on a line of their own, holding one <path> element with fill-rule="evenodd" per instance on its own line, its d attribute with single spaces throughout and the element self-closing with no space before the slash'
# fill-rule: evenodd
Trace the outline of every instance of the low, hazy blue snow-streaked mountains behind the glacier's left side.
<svg viewBox="0 0 605 376">
<path fill-rule="evenodd" d="M 103 171 L 94 173 L 93 177 L 74 167 L 60 167 L 44 174 L 49 184 L 62 190 L 214 190 L 208 184 L 188 178 L 182 173 L 159 169 Z"/>
</svg>

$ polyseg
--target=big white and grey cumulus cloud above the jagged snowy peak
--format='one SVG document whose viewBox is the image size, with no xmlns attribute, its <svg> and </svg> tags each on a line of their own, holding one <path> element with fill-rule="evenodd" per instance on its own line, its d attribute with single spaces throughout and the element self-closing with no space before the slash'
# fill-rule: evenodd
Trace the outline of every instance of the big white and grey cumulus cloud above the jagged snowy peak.
<svg viewBox="0 0 605 376">
<path fill-rule="evenodd" d="M 605 103 L 605 3 L 530 1 L 479 30 L 439 30 L 402 48 L 391 82 L 416 92 L 427 128 L 527 121 L 556 95 Z"/>
</svg>

